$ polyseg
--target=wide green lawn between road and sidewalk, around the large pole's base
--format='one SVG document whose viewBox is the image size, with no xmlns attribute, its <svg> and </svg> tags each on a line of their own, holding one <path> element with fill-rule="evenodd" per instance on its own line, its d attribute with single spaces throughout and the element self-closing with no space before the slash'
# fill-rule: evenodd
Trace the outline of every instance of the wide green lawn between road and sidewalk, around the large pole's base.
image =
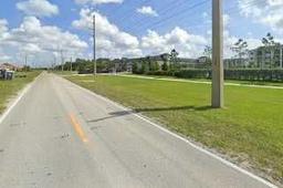
<svg viewBox="0 0 283 188">
<path fill-rule="evenodd" d="M 283 182 L 283 90 L 226 86 L 226 108 L 212 109 L 207 84 L 67 79 Z"/>
</svg>

